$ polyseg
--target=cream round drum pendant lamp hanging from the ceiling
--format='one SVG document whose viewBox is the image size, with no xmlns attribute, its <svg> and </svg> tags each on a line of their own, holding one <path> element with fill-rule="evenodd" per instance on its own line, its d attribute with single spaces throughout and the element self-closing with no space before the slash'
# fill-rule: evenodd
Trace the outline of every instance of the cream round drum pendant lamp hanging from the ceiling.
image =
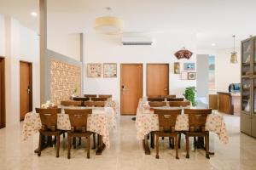
<svg viewBox="0 0 256 170">
<path fill-rule="evenodd" d="M 106 8 L 108 11 L 111 8 Z M 122 33 L 124 30 L 124 21 L 113 16 L 102 16 L 96 18 L 94 22 L 94 29 L 102 34 L 116 35 Z"/>
</svg>

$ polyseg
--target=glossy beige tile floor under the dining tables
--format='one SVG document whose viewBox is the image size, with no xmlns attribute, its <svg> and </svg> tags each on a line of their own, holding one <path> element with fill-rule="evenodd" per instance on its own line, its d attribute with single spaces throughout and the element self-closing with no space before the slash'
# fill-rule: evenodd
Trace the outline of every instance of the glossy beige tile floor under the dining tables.
<svg viewBox="0 0 256 170">
<path fill-rule="evenodd" d="M 119 128 L 111 133 L 111 148 L 104 150 L 102 156 L 96 156 L 95 150 L 91 150 L 90 159 L 86 159 L 84 144 L 72 150 L 72 157 L 67 160 L 66 149 L 63 150 L 61 142 L 60 157 L 55 158 L 55 148 L 48 148 L 38 157 L 33 153 L 37 148 L 38 135 L 21 141 L 20 126 L 4 128 L 0 130 L 0 170 L 79 170 L 79 169 L 256 169 L 256 139 L 239 132 L 239 116 L 225 116 L 225 122 L 230 136 L 229 144 L 221 144 L 218 137 L 212 135 L 211 144 L 215 156 L 210 160 L 205 158 L 203 150 L 190 151 L 190 158 L 185 158 L 185 143 L 182 139 L 182 148 L 179 150 L 179 160 L 174 157 L 174 150 L 168 149 L 168 140 L 160 140 L 160 159 L 155 159 L 152 150 L 150 156 L 143 154 L 142 141 L 136 139 L 135 122 L 131 116 L 119 117 Z M 67 139 L 67 138 L 66 138 Z M 191 144 L 191 143 L 190 143 Z M 192 144 L 191 144 L 192 145 Z"/>
</svg>

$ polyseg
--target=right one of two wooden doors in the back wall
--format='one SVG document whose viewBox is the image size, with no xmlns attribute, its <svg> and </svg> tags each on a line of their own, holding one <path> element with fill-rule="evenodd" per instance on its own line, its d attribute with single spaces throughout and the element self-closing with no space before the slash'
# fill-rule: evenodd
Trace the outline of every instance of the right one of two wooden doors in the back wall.
<svg viewBox="0 0 256 170">
<path fill-rule="evenodd" d="M 169 94 L 169 64 L 147 65 L 147 95 Z"/>
</svg>

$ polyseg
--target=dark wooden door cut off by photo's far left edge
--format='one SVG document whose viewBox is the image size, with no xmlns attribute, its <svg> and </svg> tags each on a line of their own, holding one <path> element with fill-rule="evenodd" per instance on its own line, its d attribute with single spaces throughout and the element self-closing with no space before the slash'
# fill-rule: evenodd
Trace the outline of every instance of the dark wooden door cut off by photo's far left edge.
<svg viewBox="0 0 256 170">
<path fill-rule="evenodd" d="M 5 127 L 4 59 L 0 58 L 0 128 Z"/>
</svg>

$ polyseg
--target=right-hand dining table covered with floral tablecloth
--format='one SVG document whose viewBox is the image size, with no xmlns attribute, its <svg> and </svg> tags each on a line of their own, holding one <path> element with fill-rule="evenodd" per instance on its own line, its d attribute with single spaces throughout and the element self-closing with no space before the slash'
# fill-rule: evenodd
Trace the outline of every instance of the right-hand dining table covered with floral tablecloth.
<svg viewBox="0 0 256 170">
<path fill-rule="evenodd" d="M 170 107 L 168 105 L 157 107 L 157 109 L 188 109 L 190 106 L 186 107 Z M 193 107 L 195 108 L 195 107 Z M 159 130 L 159 119 L 158 115 L 154 114 L 154 108 L 150 108 L 147 99 L 140 99 L 137 106 L 137 116 L 136 116 L 136 128 L 137 128 L 137 139 L 143 140 L 143 150 L 146 155 L 150 154 L 150 149 L 148 147 L 148 134 Z M 187 114 L 182 114 L 177 116 L 176 131 L 189 131 L 189 116 Z M 218 135 L 218 139 L 223 143 L 227 144 L 229 142 L 229 137 L 227 135 L 227 130 L 224 122 L 224 117 L 220 114 L 212 111 L 212 114 L 207 116 L 206 130 Z M 211 138 L 211 135 L 210 135 Z M 212 154 L 214 152 L 211 151 Z"/>
</svg>

